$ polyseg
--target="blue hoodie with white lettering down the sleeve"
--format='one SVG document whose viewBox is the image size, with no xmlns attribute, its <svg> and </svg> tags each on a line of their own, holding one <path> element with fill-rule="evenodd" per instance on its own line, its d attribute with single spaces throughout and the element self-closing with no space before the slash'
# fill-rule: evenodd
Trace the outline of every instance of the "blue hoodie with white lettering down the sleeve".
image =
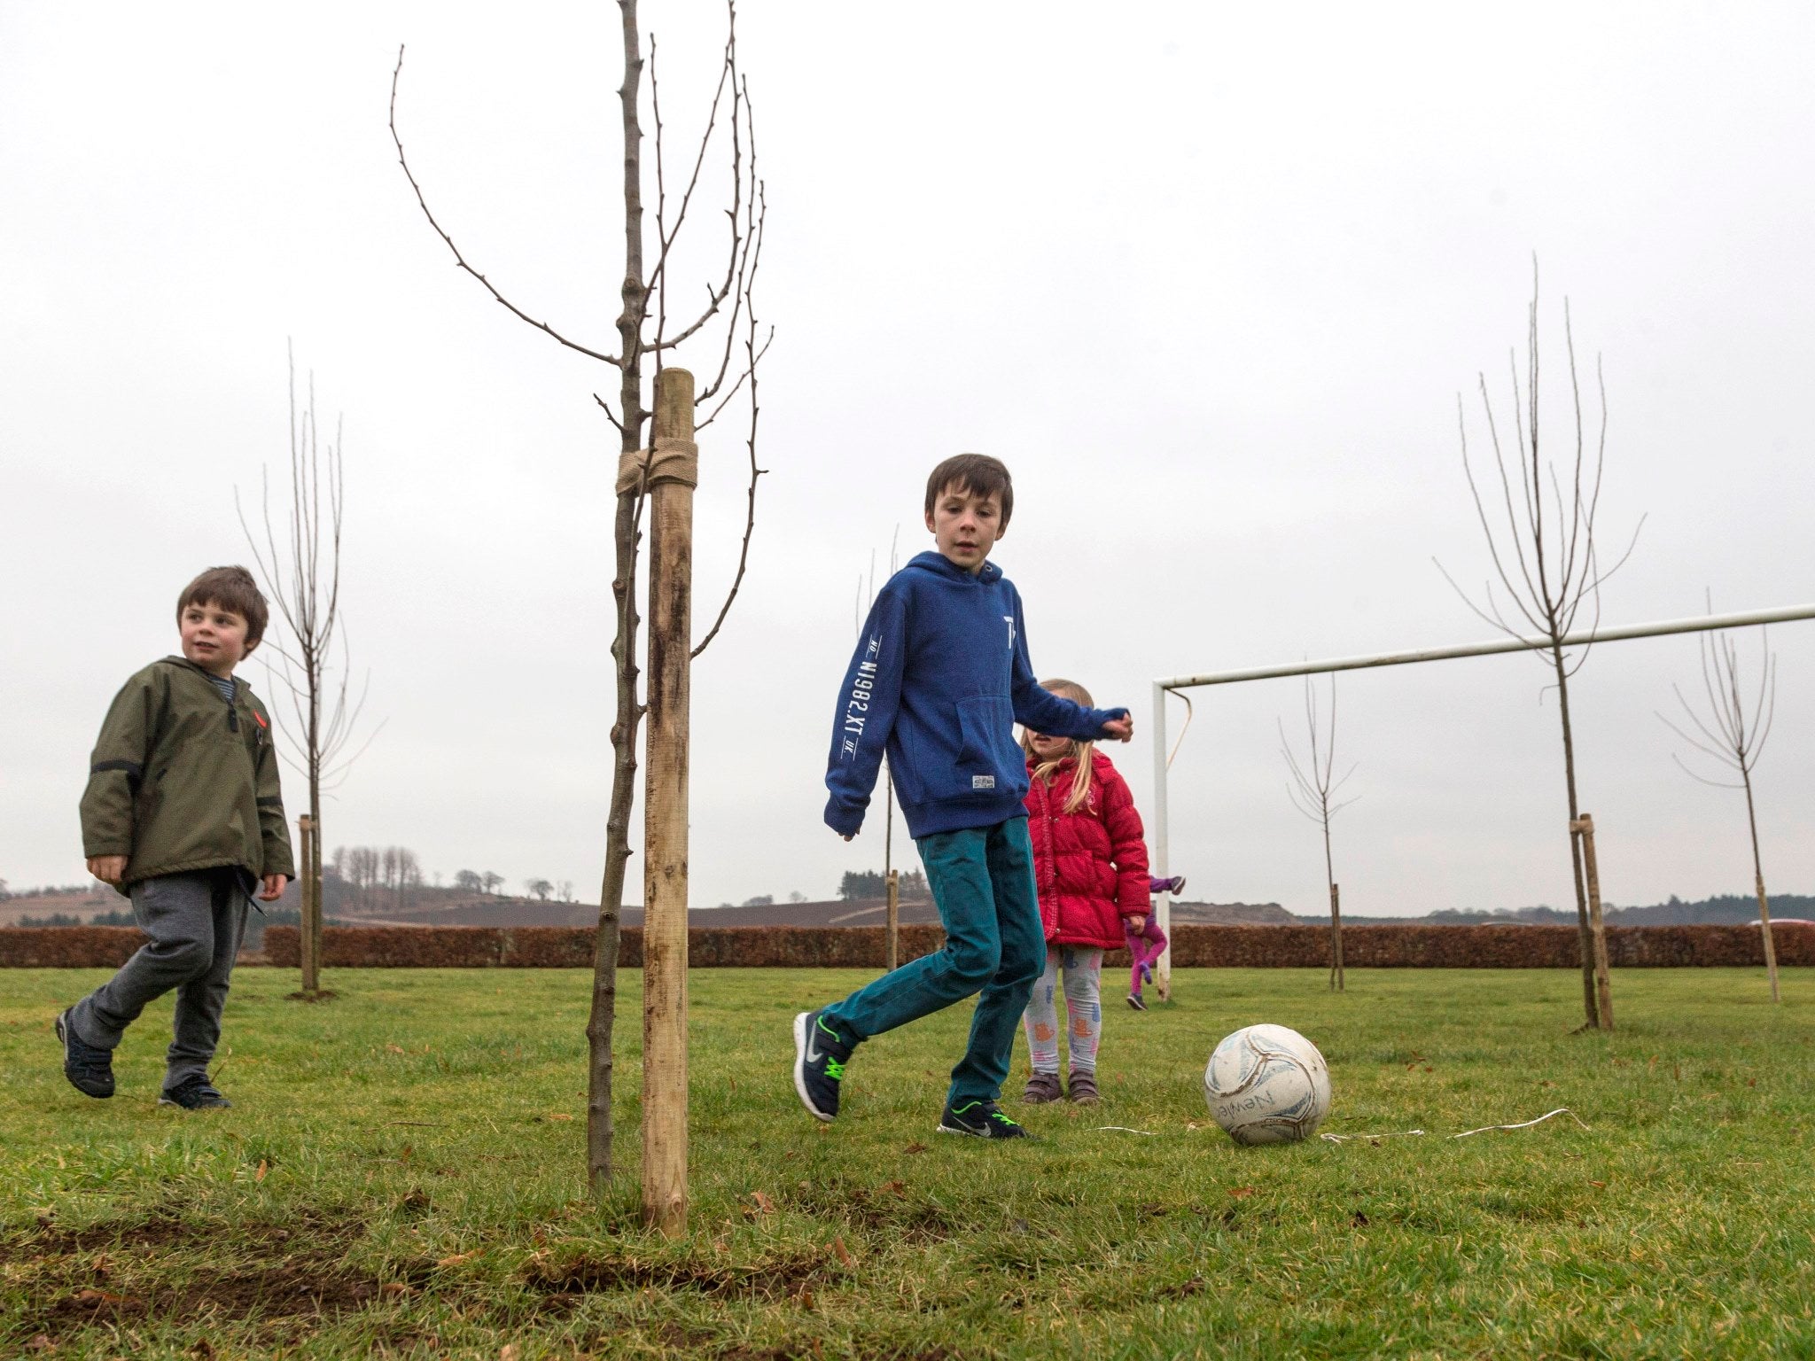
<svg viewBox="0 0 1815 1361">
<path fill-rule="evenodd" d="M 971 573 L 920 553 L 864 621 L 826 762 L 826 826 L 864 826 L 884 749 L 917 840 L 1022 817 L 1027 760 L 1015 724 L 1091 742 L 1127 710 L 1087 710 L 1040 688 L 1020 593 L 995 563 Z"/>
</svg>

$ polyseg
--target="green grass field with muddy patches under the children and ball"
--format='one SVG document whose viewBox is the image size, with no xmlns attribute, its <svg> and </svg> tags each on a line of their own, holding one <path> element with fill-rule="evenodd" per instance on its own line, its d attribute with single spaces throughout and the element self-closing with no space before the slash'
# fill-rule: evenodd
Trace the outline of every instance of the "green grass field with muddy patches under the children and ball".
<svg viewBox="0 0 1815 1361">
<path fill-rule="evenodd" d="M 1180 973 L 1109 1014 L 1104 1103 L 1015 1145 L 933 1134 L 969 1007 L 866 1045 L 820 1129 L 788 1022 L 862 976 L 697 971 L 677 1243 L 635 1216 L 633 976 L 604 1207 L 579 973 L 341 971 L 301 1005 L 245 969 L 236 1107 L 203 1114 L 154 1105 L 167 1004 L 118 1096 L 64 1083 L 49 1022 L 100 978 L 0 974 L 0 1356 L 1815 1356 L 1800 971 L 1777 1007 L 1757 971 L 1615 973 L 1614 1036 L 1568 1033 L 1566 973 Z M 1428 1134 L 1234 1147 L 1198 1082 L 1256 1020 L 1323 1049 L 1327 1131 Z M 1559 1105 L 1590 1129 L 1443 1138 Z"/>
</svg>

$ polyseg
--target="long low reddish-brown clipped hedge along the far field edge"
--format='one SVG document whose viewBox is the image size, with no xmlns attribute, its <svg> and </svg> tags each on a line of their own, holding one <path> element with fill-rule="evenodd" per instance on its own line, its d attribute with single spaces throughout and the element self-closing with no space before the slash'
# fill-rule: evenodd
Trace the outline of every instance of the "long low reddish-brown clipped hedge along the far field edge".
<svg viewBox="0 0 1815 1361">
<path fill-rule="evenodd" d="M 401 925 L 336 927 L 327 936 L 325 967 L 390 969 L 584 969 L 592 965 L 594 933 L 574 925 Z M 1815 925 L 1784 924 L 1773 931 L 1777 962 L 1815 964 Z M 0 967 L 118 967 L 143 944 L 131 925 L 0 927 Z M 900 956 L 913 960 L 944 945 L 937 925 L 900 927 Z M 1343 931 L 1343 964 L 1356 969 L 1574 969 L 1579 965 L 1572 925 L 1359 925 Z M 298 965 L 294 925 L 265 931 L 265 955 L 285 969 Z M 1621 969 L 1761 965 L 1764 945 L 1755 925 L 1610 925 L 1608 958 Z M 837 967 L 880 969 L 880 925 L 699 925 L 688 931 L 688 958 L 697 969 Z M 643 927 L 619 936 L 621 967 L 643 967 Z M 1172 964 L 1189 967 L 1323 969 L 1330 933 L 1318 925 L 1198 925 L 1172 931 Z M 1127 967 L 1127 951 L 1113 951 L 1111 967 Z"/>
</svg>

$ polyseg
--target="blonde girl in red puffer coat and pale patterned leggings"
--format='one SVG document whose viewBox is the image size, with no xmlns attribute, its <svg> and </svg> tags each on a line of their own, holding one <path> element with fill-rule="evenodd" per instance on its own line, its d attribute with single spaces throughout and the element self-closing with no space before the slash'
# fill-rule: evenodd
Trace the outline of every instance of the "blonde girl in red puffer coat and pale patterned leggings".
<svg viewBox="0 0 1815 1361">
<path fill-rule="evenodd" d="M 1078 704 L 1074 680 L 1042 680 Z M 1056 1102 L 1058 993 L 1065 994 L 1069 1096 L 1096 1100 L 1096 1042 L 1104 1029 L 1104 951 L 1122 945 L 1123 920 L 1147 915 L 1147 846 L 1140 813 L 1109 757 L 1091 742 L 1022 733 L 1027 753 L 1027 835 L 1033 840 L 1045 974 L 1022 1016 L 1033 1076 L 1024 1102 Z"/>
</svg>

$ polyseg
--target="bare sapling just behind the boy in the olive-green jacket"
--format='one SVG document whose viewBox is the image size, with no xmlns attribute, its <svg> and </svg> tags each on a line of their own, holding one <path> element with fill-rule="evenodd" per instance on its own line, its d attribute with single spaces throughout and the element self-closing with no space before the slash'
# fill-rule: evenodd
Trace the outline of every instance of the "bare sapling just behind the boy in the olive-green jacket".
<svg viewBox="0 0 1815 1361">
<path fill-rule="evenodd" d="M 323 457 L 325 455 L 325 457 Z M 265 592 L 283 621 L 285 637 L 267 642 L 267 668 L 290 697 L 294 722 L 280 722 L 285 739 L 278 748 L 285 760 L 309 780 L 309 820 L 312 827 L 309 864 L 301 866 L 303 902 L 299 913 L 305 998 L 321 994 L 321 795 L 338 786 L 365 749 L 348 751 L 365 684 L 350 693 L 352 668 L 347 630 L 339 617 L 341 524 L 345 483 L 341 481 L 341 421 L 334 439 L 323 448 L 316 421 L 316 377 L 309 376 L 309 401 L 296 405 L 296 356 L 290 354 L 290 495 L 283 512 L 283 534 L 270 514 L 270 477 L 260 472 L 260 528 L 263 543 L 247 523 L 234 488 L 234 510 L 252 550 Z M 278 659 L 274 668 L 270 657 Z M 281 713 L 281 710 L 276 710 Z M 376 729 L 372 733 L 376 737 Z M 370 737 L 367 739 L 367 744 Z"/>
</svg>

